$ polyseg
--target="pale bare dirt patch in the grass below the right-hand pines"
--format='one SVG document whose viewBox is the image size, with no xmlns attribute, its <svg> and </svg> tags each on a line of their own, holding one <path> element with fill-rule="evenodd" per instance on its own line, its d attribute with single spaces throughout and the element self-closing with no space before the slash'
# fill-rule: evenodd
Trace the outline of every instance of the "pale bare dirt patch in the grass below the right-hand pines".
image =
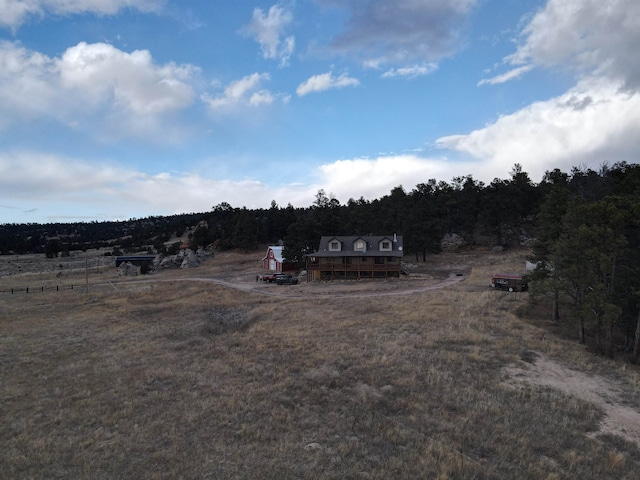
<svg viewBox="0 0 640 480">
<path fill-rule="evenodd" d="M 527 352 L 525 368 L 505 369 L 509 383 L 522 380 L 591 402 L 605 413 L 599 433 L 618 435 L 640 447 L 640 411 L 637 405 L 624 405 L 622 388 L 616 381 L 572 370 L 542 355 L 533 358 L 532 353 Z"/>
</svg>

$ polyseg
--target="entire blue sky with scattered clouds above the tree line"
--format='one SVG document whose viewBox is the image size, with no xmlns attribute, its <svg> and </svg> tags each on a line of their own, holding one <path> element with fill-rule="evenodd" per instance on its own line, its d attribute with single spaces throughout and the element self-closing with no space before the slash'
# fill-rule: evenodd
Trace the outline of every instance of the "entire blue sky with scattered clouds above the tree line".
<svg viewBox="0 0 640 480">
<path fill-rule="evenodd" d="M 638 162 L 638 0 L 0 0 L 0 223 Z"/>
</svg>

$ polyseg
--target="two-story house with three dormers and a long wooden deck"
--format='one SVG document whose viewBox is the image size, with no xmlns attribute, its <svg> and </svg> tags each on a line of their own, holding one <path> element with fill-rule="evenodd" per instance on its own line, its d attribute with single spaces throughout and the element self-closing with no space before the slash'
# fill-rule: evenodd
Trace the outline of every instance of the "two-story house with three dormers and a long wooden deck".
<svg viewBox="0 0 640 480">
<path fill-rule="evenodd" d="M 399 277 L 402 236 L 326 236 L 306 255 L 307 281 Z"/>
</svg>

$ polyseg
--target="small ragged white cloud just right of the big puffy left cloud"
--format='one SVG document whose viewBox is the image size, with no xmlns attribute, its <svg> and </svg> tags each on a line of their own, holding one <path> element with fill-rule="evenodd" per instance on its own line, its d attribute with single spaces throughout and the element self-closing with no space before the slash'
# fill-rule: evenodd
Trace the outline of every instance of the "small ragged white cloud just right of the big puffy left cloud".
<svg viewBox="0 0 640 480">
<path fill-rule="evenodd" d="M 279 99 L 286 103 L 289 98 L 287 95 L 274 94 L 262 88 L 262 82 L 268 81 L 270 78 L 268 73 L 253 73 L 231 82 L 218 96 L 203 94 L 201 100 L 212 111 L 246 105 L 252 107 L 270 105 Z"/>
</svg>

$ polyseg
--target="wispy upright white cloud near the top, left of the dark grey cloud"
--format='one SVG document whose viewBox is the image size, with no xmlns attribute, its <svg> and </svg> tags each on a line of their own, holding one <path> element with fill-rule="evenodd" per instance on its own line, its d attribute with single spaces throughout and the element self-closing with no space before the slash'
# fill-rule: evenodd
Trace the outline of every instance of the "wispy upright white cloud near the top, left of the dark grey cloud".
<svg viewBox="0 0 640 480">
<path fill-rule="evenodd" d="M 280 66 L 286 66 L 295 49 L 295 37 L 283 36 L 292 21 L 293 14 L 280 5 L 272 6 L 266 14 L 262 9 L 256 8 L 251 22 L 243 31 L 260 44 L 264 58 L 280 60 Z"/>
</svg>

